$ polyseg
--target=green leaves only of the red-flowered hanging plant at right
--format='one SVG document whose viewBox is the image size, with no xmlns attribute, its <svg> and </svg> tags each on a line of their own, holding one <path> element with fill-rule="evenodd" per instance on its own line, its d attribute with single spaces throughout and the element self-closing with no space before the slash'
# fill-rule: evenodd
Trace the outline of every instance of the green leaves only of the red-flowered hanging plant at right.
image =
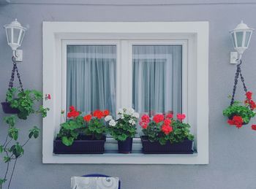
<svg viewBox="0 0 256 189">
<path fill-rule="evenodd" d="M 241 102 L 235 101 L 235 103 L 223 110 L 223 115 L 231 119 L 234 115 L 241 116 L 245 124 L 249 123 L 252 117 L 255 117 L 256 113 L 247 106 L 242 106 Z"/>
</svg>

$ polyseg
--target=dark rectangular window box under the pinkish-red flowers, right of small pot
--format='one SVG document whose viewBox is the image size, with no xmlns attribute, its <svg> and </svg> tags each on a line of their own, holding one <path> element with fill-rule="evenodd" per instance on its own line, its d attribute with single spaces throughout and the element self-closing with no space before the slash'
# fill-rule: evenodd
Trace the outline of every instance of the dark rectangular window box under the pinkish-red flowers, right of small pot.
<svg viewBox="0 0 256 189">
<path fill-rule="evenodd" d="M 150 142 L 147 136 L 140 137 L 143 153 L 146 154 L 192 154 L 193 141 L 185 139 L 184 142 L 170 144 L 167 142 L 165 145 L 159 144 L 159 142 Z"/>
</svg>

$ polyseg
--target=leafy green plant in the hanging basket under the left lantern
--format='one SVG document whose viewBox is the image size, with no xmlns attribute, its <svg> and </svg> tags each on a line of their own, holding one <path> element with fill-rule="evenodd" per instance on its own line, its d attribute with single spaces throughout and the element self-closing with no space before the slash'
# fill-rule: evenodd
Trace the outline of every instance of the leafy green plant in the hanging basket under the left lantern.
<svg viewBox="0 0 256 189">
<path fill-rule="evenodd" d="M 37 90 L 18 90 L 18 88 L 7 90 L 7 102 L 12 108 L 19 109 L 18 117 L 23 120 L 33 113 L 41 113 L 42 117 L 47 116 L 49 108 L 44 108 L 42 105 L 37 109 L 35 107 L 35 102 L 42 99 L 50 99 L 50 95 L 44 98 L 42 92 Z"/>
</svg>

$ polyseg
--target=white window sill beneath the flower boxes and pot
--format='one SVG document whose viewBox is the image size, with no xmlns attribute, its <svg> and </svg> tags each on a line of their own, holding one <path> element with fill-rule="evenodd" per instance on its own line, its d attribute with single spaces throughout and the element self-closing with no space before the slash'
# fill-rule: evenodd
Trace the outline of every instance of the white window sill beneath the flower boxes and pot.
<svg viewBox="0 0 256 189">
<path fill-rule="evenodd" d="M 193 154 L 143 154 L 132 151 L 129 154 L 106 150 L 104 154 L 53 154 L 43 163 L 87 163 L 87 164 L 208 164 L 199 161 L 197 152 Z"/>
</svg>

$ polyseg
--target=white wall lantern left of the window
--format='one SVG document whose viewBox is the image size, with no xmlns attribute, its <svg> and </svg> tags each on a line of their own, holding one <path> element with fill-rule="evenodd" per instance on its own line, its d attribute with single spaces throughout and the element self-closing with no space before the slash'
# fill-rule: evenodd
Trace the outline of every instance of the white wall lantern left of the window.
<svg viewBox="0 0 256 189">
<path fill-rule="evenodd" d="M 8 45 L 12 48 L 12 55 L 15 61 L 22 61 L 22 50 L 17 50 L 21 46 L 26 28 L 21 26 L 17 19 L 4 26 L 7 34 Z"/>
</svg>

